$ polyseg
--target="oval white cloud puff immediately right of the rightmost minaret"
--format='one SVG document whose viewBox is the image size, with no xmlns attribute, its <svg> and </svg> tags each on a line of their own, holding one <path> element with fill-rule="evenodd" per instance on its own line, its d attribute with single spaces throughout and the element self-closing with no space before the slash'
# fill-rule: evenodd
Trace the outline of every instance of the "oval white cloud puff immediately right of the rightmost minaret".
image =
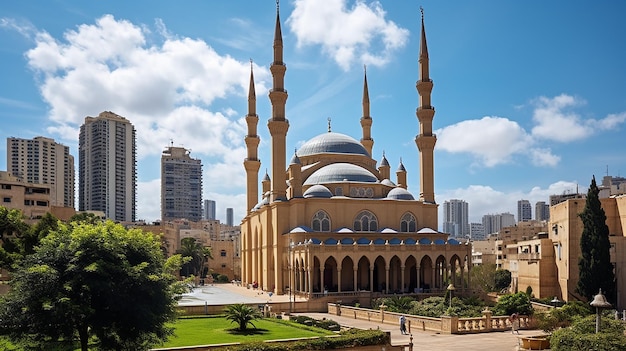
<svg viewBox="0 0 626 351">
<path fill-rule="evenodd" d="M 436 131 L 437 148 L 451 153 L 469 153 L 493 167 L 527 151 L 530 136 L 519 124 L 502 117 L 466 120 Z"/>
</svg>

